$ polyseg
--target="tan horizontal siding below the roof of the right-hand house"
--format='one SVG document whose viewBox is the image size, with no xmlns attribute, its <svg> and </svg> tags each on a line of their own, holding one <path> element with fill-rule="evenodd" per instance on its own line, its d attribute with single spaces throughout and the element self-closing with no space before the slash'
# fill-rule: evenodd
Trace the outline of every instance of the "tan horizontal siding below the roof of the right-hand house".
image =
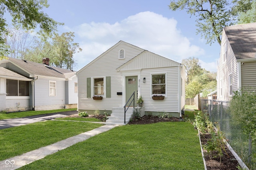
<svg viewBox="0 0 256 170">
<path fill-rule="evenodd" d="M 256 62 L 244 62 L 241 65 L 242 88 L 256 89 Z"/>
</svg>

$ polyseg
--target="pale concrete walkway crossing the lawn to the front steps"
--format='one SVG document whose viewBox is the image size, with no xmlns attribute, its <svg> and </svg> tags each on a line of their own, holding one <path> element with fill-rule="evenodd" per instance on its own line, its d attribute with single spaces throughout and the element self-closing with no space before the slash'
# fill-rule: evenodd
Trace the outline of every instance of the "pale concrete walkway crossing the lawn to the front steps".
<svg viewBox="0 0 256 170">
<path fill-rule="evenodd" d="M 102 127 L 98 127 L 91 131 L 87 131 L 87 132 L 81 133 L 79 135 L 76 135 L 74 137 L 64 139 L 64 140 L 54 143 L 52 145 L 48 145 L 48 146 L 42 147 L 40 149 L 32 150 L 32 151 L 24 153 L 20 156 L 15 156 L 12 158 L 8 158 L 6 160 L 2 160 L 2 161 L 0 161 L 0 169 L 1 170 L 15 170 L 17 168 L 20 168 L 20 167 L 26 165 L 26 164 L 30 164 L 31 162 L 42 159 L 49 154 L 53 154 L 55 152 L 58 152 L 59 150 L 66 149 L 67 147 L 70 147 L 78 142 L 85 141 L 86 139 L 89 139 L 90 137 L 92 137 L 94 135 L 98 135 L 102 132 L 106 132 L 106 131 L 108 131 L 114 127 L 117 127 L 117 126 L 118 125 L 104 125 Z"/>
</svg>

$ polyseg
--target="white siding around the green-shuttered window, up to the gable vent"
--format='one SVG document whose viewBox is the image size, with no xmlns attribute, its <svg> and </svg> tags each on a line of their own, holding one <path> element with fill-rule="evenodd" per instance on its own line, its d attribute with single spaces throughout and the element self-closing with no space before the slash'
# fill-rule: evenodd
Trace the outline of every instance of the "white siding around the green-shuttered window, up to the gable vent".
<svg viewBox="0 0 256 170">
<path fill-rule="evenodd" d="M 118 59 L 120 49 L 124 49 L 125 51 L 124 59 Z M 120 43 L 108 51 L 108 53 L 101 55 L 92 63 L 89 63 L 85 69 L 82 68 L 82 71 L 78 73 L 78 109 L 111 110 L 112 107 L 122 107 L 122 95 L 117 95 L 117 92 L 122 92 L 122 73 L 117 72 L 116 68 L 130 61 L 142 51 Z M 87 78 L 90 77 L 91 81 L 93 81 L 93 78 L 104 77 L 105 83 L 107 76 L 111 78 L 111 98 L 104 97 L 102 100 L 93 100 L 93 90 L 91 91 L 91 98 L 87 98 Z M 104 91 L 105 95 L 106 91 Z"/>
</svg>

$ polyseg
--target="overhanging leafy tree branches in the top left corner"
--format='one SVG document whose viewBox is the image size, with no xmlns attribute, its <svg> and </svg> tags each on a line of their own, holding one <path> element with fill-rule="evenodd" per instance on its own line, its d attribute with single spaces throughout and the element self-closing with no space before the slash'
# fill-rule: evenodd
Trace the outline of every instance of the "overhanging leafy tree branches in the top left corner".
<svg viewBox="0 0 256 170">
<path fill-rule="evenodd" d="M 42 8 L 48 8 L 47 0 L 1 0 L 0 1 L 0 55 L 6 51 L 3 35 L 8 34 L 7 22 L 4 14 L 7 12 L 12 16 L 14 24 L 19 23 L 24 29 L 35 29 L 38 25 L 41 35 L 49 36 L 56 31 L 57 25 L 62 24 L 54 21 Z"/>
</svg>

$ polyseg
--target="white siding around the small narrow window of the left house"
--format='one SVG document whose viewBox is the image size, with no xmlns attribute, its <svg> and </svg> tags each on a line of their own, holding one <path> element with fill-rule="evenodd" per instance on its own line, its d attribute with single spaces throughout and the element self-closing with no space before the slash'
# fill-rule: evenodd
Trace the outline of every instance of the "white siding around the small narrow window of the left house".
<svg viewBox="0 0 256 170">
<path fill-rule="evenodd" d="M 65 80 L 56 81 L 56 96 L 49 96 L 49 79 L 38 78 L 35 81 L 35 107 L 36 106 L 50 106 L 65 104 Z"/>
</svg>

